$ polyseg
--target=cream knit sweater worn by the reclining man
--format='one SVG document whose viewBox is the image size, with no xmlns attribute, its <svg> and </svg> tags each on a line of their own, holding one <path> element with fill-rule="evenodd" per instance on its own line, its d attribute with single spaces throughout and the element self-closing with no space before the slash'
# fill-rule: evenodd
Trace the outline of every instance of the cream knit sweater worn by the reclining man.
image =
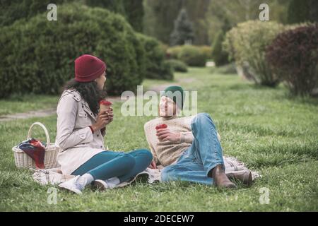
<svg viewBox="0 0 318 226">
<path fill-rule="evenodd" d="M 180 155 L 189 148 L 192 144 L 194 136 L 191 131 L 192 117 L 173 116 L 170 118 L 158 117 L 151 121 L 146 122 L 144 129 L 148 144 L 153 154 L 153 160 L 157 165 L 161 164 L 164 167 L 176 162 Z M 167 129 L 170 129 L 173 133 L 180 133 L 180 141 L 173 143 L 171 141 L 159 141 L 155 135 L 155 126 L 158 124 L 166 124 Z M 220 135 L 218 134 L 218 140 L 220 141 Z"/>
</svg>

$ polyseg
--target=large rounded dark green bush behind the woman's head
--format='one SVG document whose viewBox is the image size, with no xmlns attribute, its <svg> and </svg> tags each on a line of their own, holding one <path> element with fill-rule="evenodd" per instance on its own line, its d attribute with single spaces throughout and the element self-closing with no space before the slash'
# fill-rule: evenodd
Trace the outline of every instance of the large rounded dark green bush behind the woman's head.
<svg viewBox="0 0 318 226">
<path fill-rule="evenodd" d="M 107 64 L 107 91 L 136 90 L 145 74 L 145 52 L 122 16 L 102 8 L 61 5 L 57 21 L 46 13 L 2 28 L 0 97 L 59 93 L 74 76 L 73 61 L 93 54 Z"/>
</svg>

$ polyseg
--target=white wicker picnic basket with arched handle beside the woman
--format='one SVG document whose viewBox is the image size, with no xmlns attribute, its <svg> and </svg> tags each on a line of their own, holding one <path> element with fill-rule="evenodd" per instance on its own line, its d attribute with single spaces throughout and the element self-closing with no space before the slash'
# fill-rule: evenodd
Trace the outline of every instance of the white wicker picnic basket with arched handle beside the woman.
<svg viewBox="0 0 318 226">
<path fill-rule="evenodd" d="M 30 126 L 28 131 L 28 138 L 31 138 L 31 131 L 33 126 L 38 125 L 41 126 L 42 129 L 45 131 L 45 135 L 47 136 L 47 144 L 45 146 L 45 169 L 56 168 L 59 167 L 57 163 L 57 154 L 59 153 L 59 147 L 54 143 L 50 143 L 49 141 L 49 133 L 47 132 L 47 128 L 40 122 L 35 122 Z M 16 162 L 16 167 L 23 167 L 23 168 L 36 168 L 35 161 L 28 156 L 23 150 L 18 148 L 18 146 L 14 146 L 12 148 L 14 153 L 14 160 Z"/>
</svg>

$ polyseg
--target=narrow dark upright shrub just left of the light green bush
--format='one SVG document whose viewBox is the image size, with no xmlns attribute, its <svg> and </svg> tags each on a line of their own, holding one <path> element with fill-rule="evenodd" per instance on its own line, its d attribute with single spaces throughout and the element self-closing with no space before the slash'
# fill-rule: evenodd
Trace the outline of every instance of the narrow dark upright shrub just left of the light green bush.
<svg viewBox="0 0 318 226">
<path fill-rule="evenodd" d="M 216 66 L 223 66 L 228 64 L 228 53 L 223 50 L 222 43 L 225 39 L 223 30 L 220 30 L 216 35 L 216 39 L 212 44 L 212 59 Z"/>
</svg>

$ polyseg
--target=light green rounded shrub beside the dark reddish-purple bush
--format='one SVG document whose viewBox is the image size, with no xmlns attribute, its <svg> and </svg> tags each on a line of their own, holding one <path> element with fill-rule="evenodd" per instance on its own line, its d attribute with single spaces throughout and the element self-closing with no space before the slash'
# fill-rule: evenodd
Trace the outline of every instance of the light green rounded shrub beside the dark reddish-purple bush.
<svg viewBox="0 0 318 226">
<path fill-rule="evenodd" d="M 279 80 L 265 59 L 266 47 L 283 30 L 283 25 L 276 22 L 239 23 L 226 34 L 224 48 L 238 66 L 248 69 L 255 83 L 274 87 Z"/>
</svg>

